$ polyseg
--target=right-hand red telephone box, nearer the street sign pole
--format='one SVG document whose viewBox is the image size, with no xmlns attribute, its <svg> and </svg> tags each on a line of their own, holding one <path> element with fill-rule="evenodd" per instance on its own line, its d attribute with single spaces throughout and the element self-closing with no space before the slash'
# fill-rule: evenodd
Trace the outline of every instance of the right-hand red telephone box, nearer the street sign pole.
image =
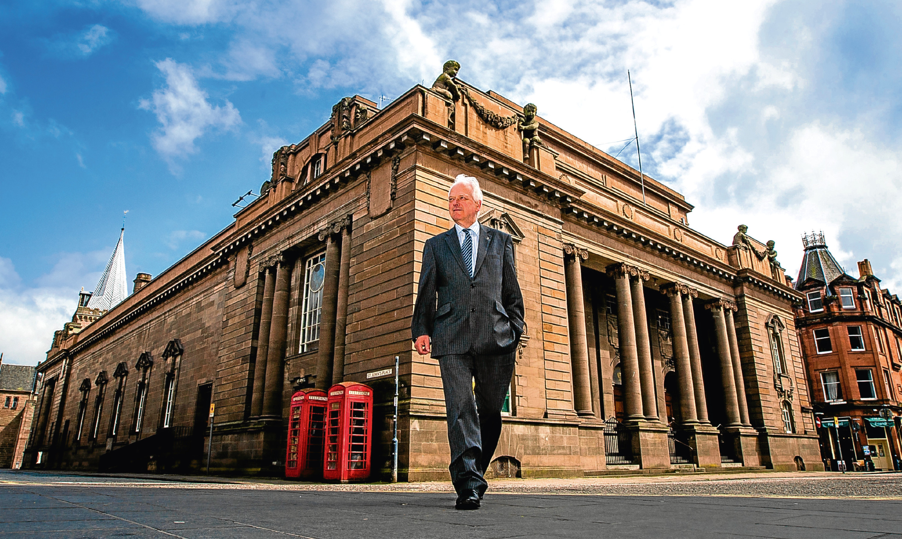
<svg viewBox="0 0 902 539">
<path fill-rule="evenodd" d="M 329 388 L 324 480 L 370 477 L 373 388 L 342 382 Z"/>
</svg>

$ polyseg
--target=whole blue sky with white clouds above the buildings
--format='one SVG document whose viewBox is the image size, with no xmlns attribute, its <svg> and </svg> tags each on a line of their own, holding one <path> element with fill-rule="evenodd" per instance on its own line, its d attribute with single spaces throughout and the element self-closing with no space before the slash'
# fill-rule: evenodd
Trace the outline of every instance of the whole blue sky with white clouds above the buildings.
<svg viewBox="0 0 902 539">
<path fill-rule="evenodd" d="M 272 151 L 331 105 L 460 77 L 647 173 L 795 276 L 824 230 L 852 275 L 902 283 L 900 8 L 892 2 L 253 2 L 0 5 L 0 352 L 35 363 L 129 210 L 126 268 L 157 275 L 231 220 Z M 635 150 L 621 159 L 634 163 Z"/>
</svg>

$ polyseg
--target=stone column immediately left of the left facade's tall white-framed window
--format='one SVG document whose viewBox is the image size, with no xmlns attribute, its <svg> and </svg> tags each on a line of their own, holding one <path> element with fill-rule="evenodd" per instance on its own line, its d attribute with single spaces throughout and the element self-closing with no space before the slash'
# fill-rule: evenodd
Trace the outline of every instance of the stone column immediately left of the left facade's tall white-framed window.
<svg viewBox="0 0 902 539">
<path fill-rule="evenodd" d="M 281 417 L 281 394 L 288 334 L 288 302 L 291 288 L 291 266 L 279 257 L 276 265 L 276 286 L 272 294 L 272 322 L 270 345 L 266 351 L 266 386 L 263 388 L 263 416 Z"/>
</svg>

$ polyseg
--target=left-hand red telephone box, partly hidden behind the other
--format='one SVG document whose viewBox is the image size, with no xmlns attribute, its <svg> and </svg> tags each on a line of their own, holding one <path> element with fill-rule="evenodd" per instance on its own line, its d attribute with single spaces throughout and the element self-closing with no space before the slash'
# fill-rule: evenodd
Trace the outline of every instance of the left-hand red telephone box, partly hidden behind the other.
<svg viewBox="0 0 902 539">
<path fill-rule="evenodd" d="M 285 477 L 315 477 L 323 470 L 326 404 L 322 389 L 300 390 L 291 396 Z"/>
</svg>

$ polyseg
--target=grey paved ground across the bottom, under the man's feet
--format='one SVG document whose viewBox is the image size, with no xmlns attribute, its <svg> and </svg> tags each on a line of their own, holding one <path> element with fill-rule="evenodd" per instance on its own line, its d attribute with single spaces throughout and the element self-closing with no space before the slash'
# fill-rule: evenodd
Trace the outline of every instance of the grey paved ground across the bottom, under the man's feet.
<svg viewBox="0 0 902 539">
<path fill-rule="evenodd" d="M 441 481 L 0 470 L 0 536 L 902 539 L 902 473 L 492 480 L 479 511 L 454 498 Z"/>
</svg>

